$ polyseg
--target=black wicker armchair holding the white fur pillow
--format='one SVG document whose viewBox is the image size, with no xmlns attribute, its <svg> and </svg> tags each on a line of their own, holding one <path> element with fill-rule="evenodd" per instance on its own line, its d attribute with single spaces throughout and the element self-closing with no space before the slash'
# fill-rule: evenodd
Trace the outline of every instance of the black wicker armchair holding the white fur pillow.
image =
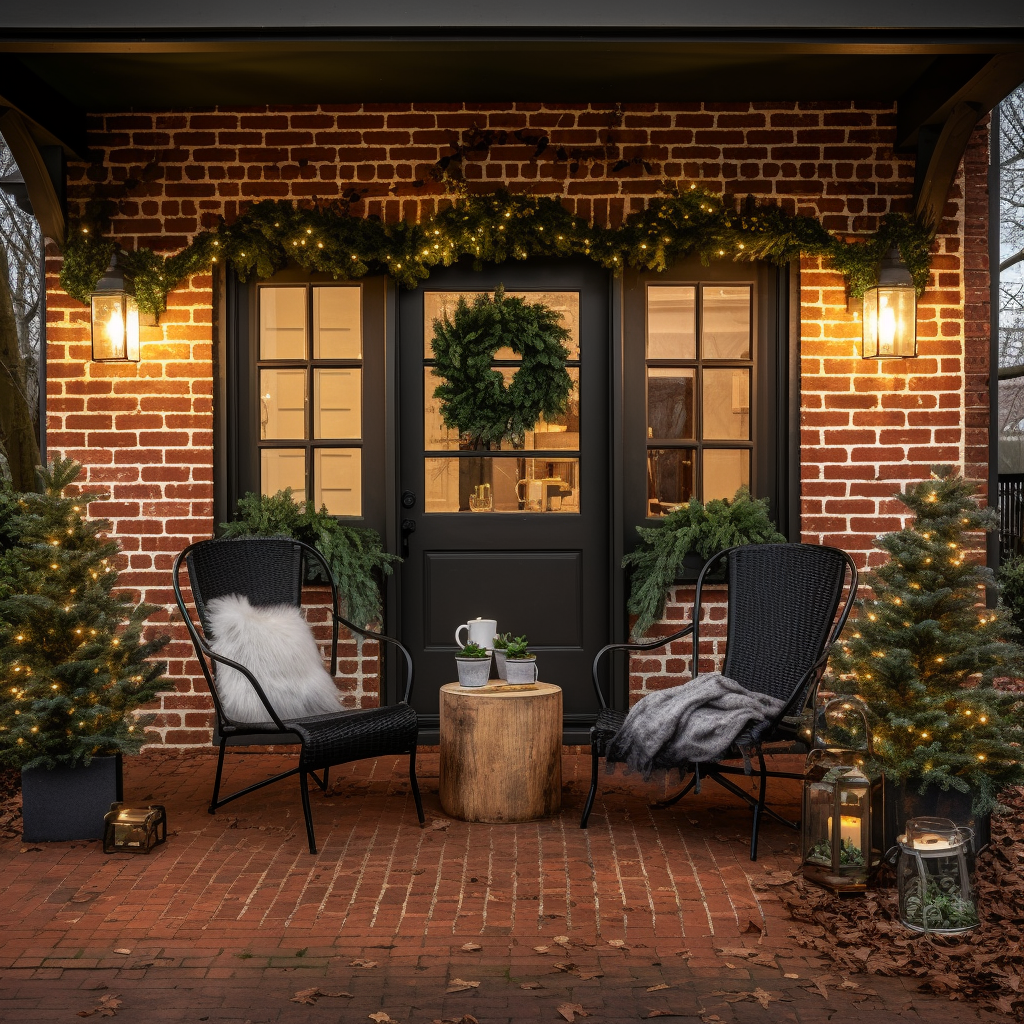
<svg viewBox="0 0 1024 1024">
<path fill-rule="evenodd" d="M 195 603 L 198 623 L 185 605 L 180 587 L 180 567 L 188 571 L 188 582 Z M 333 641 L 331 645 L 331 675 L 338 668 L 338 626 L 347 627 L 381 643 L 392 644 L 401 651 L 406 663 L 406 691 L 401 701 L 381 708 L 339 711 L 313 718 L 281 719 L 266 698 L 259 681 L 243 665 L 214 653 L 210 647 L 210 624 L 206 609 L 210 601 L 226 594 L 244 594 L 255 605 L 301 604 L 303 581 L 308 580 L 309 569 L 318 567 L 323 579 L 330 581 L 333 607 Z M 332 765 L 360 761 L 364 758 L 384 757 L 390 754 L 409 755 L 409 778 L 412 783 L 416 813 L 423 823 L 423 804 L 416 781 L 416 743 L 419 734 L 416 712 L 410 707 L 413 690 L 413 658 L 409 651 L 391 637 L 371 630 L 359 629 L 343 618 L 339 611 L 338 587 L 331 569 L 315 548 L 288 538 L 240 538 L 238 540 L 211 540 L 190 544 L 174 559 L 174 596 L 188 629 L 196 656 L 203 669 L 213 702 L 217 711 L 220 754 L 217 758 L 217 775 L 213 783 L 210 813 L 218 807 L 256 790 L 269 785 L 290 775 L 299 776 L 302 813 L 306 819 L 309 852 L 316 852 L 312 816 L 309 811 L 309 792 L 306 776 L 324 792 L 328 787 L 328 774 Z M 318 573 L 317 573 L 318 575 Z M 224 713 L 217 693 L 216 665 L 228 665 L 241 672 L 256 690 L 266 708 L 266 722 L 234 722 Z M 246 736 L 276 736 L 285 742 L 300 744 L 299 763 L 295 768 L 247 786 L 229 797 L 220 796 L 220 780 L 224 768 L 224 751 L 228 740 Z M 287 737 L 287 738 L 286 738 Z M 216 739 L 215 739 L 216 741 Z M 316 771 L 322 775 L 317 776 Z"/>
</svg>

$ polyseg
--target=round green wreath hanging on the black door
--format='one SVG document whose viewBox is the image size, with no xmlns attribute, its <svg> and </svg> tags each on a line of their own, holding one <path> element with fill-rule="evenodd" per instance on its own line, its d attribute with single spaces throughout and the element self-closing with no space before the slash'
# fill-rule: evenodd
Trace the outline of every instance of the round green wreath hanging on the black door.
<svg viewBox="0 0 1024 1024">
<path fill-rule="evenodd" d="M 542 415 L 550 419 L 565 412 L 572 390 L 565 369 L 569 332 L 550 306 L 507 298 L 499 285 L 493 298 L 477 296 L 472 305 L 460 298 L 455 314 L 445 312 L 433 329 L 433 375 L 441 380 L 434 397 L 444 425 L 470 447 L 490 447 L 506 438 L 519 446 Z M 504 347 L 522 357 L 507 387 L 490 365 Z"/>
</svg>

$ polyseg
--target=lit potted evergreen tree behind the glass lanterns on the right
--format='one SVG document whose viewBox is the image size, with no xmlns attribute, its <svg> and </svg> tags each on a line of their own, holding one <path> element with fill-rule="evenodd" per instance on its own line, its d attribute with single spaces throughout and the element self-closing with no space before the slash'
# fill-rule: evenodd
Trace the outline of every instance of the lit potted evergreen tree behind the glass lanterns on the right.
<svg viewBox="0 0 1024 1024">
<path fill-rule="evenodd" d="M 887 848 L 919 816 L 974 827 L 984 845 L 999 791 L 1024 782 L 1024 696 L 994 685 L 1024 669 L 1024 650 L 1007 612 L 985 606 L 995 581 L 971 552 L 997 515 L 974 495 L 935 466 L 895 496 L 913 520 L 876 542 L 888 559 L 833 655 L 837 688 L 867 705 Z"/>
</svg>

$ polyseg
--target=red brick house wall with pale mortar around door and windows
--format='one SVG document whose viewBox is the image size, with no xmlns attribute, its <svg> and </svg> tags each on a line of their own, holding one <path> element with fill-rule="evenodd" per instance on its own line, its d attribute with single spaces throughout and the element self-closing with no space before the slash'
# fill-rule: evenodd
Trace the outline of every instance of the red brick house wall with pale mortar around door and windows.
<svg viewBox="0 0 1024 1024">
<path fill-rule="evenodd" d="M 884 103 L 368 104 L 108 115 L 91 122 L 99 160 L 70 168 L 73 210 L 116 204 L 123 244 L 173 252 L 203 226 L 264 198 L 341 202 L 356 216 L 417 217 L 443 202 L 440 165 L 471 188 L 561 197 L 615 223 L 666 181 L 780 201 L 839 232 L 906 210 L 912 166 L 892 152 Z M 543 143 L 543 144 L 542 144 Z M 987 127 L 979 129 L 936 241 L 921 303 L 921 357 L 867 364 L 843 281 L 807 260 L 802 274 L 802 493 L 805 539 L 838 543 L 863 564 L 895 525 L 889 495 L 930 463 L 984 475 L 987 443 Z M 142 332 L 137 366 L 89 361 L 87 310 L 48 270 L 48 442 L 112 492 L 102 511 L 124 548 L 126 586 L 170 617 L 169 568 L 212 519 L 212 282 L 197 275 Z M 965 309 L 968 319 L 965 321 Z M 673 595 L 667 618 L 688 614 Z M 714 621 L 716 607 L 709 608 Z M 668 628 L 668 627 L 667 627 Z M 203 741 L 209 703 L 180 625 L 172 624 L 176 692 L 157 729 Z M 709 655 L 716 650 L 709 633 Z M 346 650 L 340 685 L 375 699 L 376 651 Z M 631 689 L 664 685 L 681 652 L 634 667 Z"/>
</svg>

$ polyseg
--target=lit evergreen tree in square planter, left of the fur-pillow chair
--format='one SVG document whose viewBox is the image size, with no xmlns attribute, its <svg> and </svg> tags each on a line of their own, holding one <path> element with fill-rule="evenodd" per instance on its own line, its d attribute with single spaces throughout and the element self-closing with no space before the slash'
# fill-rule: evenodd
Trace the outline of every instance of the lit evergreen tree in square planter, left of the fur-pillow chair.
<svg viewBox="0 0 1024 1024">
<path fill-rule="evenodd" d="M 113 592 L 119 548 L 87 515 L 106 496 L 69 493 L 80 469 L 55 459 L 42 494 L 0 509 L 0 763 L 22 770 L 29 842 L 101 838 L 121 757 L 142 745 L 134 712 L 170 687 L 150 660 L 168 637 L 142 639 L 156 609 Z"/>
</svg>

